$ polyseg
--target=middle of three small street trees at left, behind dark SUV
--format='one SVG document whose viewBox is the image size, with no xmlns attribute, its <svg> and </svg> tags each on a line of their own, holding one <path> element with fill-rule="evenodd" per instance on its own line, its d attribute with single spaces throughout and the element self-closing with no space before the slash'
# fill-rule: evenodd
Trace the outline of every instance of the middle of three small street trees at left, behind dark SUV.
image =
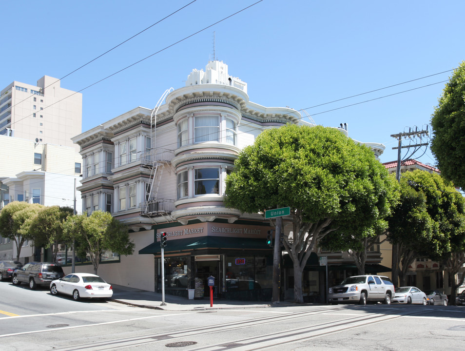
<svg viewBox="0 0 465 351">
<path fill-rule="evenodd" d="M 52 249 L 52 259 L 57 260 L 59 244 L 67 244 L 63 235 L 63 223 L 73 209 L 69 207 L 44 207 L 34 217 L 30 225 L 30 232 L 34 237 L 34 245 L 44 249 Z"/>
</svg>

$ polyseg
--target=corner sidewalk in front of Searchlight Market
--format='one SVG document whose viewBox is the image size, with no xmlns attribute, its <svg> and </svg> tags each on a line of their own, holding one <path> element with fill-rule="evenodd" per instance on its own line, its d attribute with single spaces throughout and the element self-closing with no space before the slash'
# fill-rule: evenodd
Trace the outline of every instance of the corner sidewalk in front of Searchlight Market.
<svg viewBox="0 0 465 351">
<path fill-rule="evenodd" d="M 210 307 L 210 298 L 189 300 L 186 297 L 174 296 L 165 293 L 165 304 L 161 306 L 161 293 L 138 290 L 134 288 L 113 285 L 112 300 L 126 305 L 151 308 L 167 311 L 201 311 L 231 308 L 269 308 L 292 306 L 289 302 L 271 305 L 271 301 L 233 301 L 213 299 L 213 307 Z"/>
</svg>

